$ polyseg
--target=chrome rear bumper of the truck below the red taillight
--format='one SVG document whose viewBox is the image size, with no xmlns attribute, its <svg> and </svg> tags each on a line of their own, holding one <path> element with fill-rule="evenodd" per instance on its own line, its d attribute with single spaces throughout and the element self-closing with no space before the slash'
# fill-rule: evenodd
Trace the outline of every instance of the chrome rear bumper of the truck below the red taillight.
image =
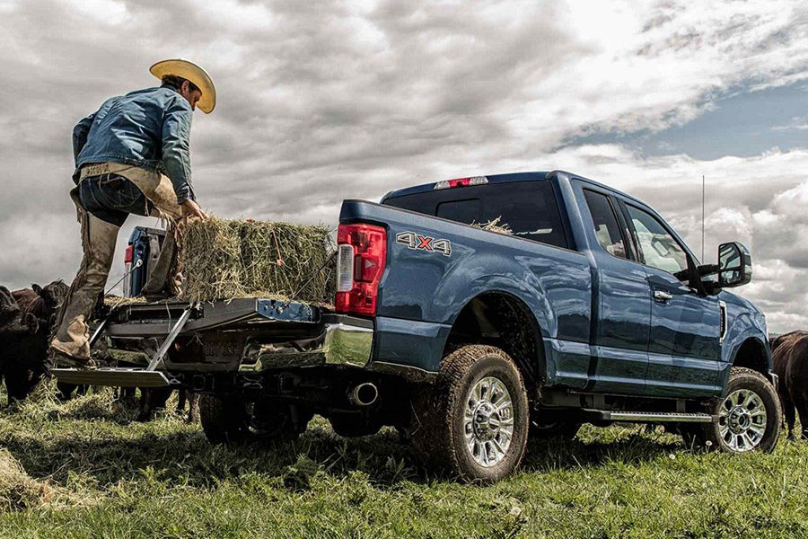
<svg viewBox="0 0 808 539">
<path fill-rule="evenodd" d="M 286 367 L 338 365 L 365 367 L 373 351 L 373 322 L 332 315 L 319 335 L 285 342 L 251 342 L 239 372 L 256 373 Z"/>
</svg>

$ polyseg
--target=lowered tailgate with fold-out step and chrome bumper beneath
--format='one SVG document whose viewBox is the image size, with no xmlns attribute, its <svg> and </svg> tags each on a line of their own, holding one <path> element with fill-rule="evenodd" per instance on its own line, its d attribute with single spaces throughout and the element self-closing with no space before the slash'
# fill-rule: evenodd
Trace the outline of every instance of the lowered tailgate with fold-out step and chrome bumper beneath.
<svg viewBox="0 0 808 539">
<path fill-rule="evenodd" d="M 168 301 L 113 310 L 92 340 L 101 335 L 110 351 L 136 351 L 148 367 L 55 368 L 53 374 L 70 384 L 157 387 L 181 384 L 181 373 L 364 367 L 371 360 L 373 321 L 277 299 Z"/>
</svg>

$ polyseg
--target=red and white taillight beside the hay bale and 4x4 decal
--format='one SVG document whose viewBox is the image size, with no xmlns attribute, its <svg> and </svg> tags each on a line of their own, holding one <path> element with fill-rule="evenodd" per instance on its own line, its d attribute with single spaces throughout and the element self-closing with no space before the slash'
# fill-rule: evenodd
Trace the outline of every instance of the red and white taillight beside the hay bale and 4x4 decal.
<svg viewBox="0 0 808 539">
<path fill-rule="evenodd" d="M 376 314 L 376 297 L 387 259 L 382 226 L 339 225 L 337 230 L 337 312 Z"/>
</svg>

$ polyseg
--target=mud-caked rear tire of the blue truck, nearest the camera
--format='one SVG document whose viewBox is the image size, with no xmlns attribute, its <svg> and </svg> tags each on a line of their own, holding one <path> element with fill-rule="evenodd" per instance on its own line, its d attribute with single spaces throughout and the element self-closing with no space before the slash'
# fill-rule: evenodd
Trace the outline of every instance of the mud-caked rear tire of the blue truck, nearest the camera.
<svg viewBox="0 0 808 539">
<path fill-rule="evenodd" d="M 496 383 L 492 384 L 491 379 Z M 498 415 L 498 411 L 490 412 L 496 407 L 482 397 L 490 392 L 491 399 L 497 394 L 505 399 L 502 386 L 510 395 L 511 405 L 506 413 Z M 474 403 L 471 393 L 478 387 L 482 393 Z M 504 401 L 492 402 L 502 406 L 500 402 Z M 473 420 L 466 419 L 467 408 Z M 522 462 L 530 409 L 522 375 L 501 349 L 467 345 L 452 351 L 441 362 L 435 384 L 414 396 L 413 409 L 413 446 L 425 464 L 448 468 L 467 481 L 496 482 L 513 473 Z M 505 430 L 511 425 L 513 429 L 508 434 Z M 469 443 L 467 433 L 472 440 Z M 490 436 L 495 437 L 487 439 Z M 504 451 L 489 459 L 489 449 L 494 448 L 495 441 L 499 447 L 505 446 Z M 479 455 L 475 456 L 474 451 Z M 480 459 L 491 462 L 482 464 Z"/>
</svg>

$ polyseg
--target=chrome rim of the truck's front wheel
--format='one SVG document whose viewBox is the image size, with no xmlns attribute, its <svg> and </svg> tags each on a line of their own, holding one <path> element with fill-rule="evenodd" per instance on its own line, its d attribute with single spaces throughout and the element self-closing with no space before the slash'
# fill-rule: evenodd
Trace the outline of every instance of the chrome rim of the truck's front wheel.
<svg viewBox="0 0 808 539">
<path fill-rule="evenodd" d="M 766 434 L 766 406 L 760 395 L 748 389 L 728 394 L 718 412 L 718 433 L 738 453 L 760 446 Z"/>
</svg>

